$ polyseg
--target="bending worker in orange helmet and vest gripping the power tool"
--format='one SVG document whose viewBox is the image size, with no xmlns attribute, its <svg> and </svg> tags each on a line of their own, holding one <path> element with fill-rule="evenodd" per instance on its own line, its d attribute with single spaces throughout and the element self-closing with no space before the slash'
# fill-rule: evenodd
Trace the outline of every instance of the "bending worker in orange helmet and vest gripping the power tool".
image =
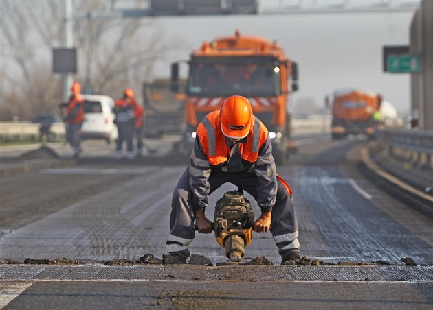
<svg viewBox="0 0 433 310">
<path fill-rule="evenodd" d="M 205 216 L 208 196 L 222 184 L 240 186 L 254 197 L 261 215 L 254 231 L 271 231 L 282 265 L 298 263 L 298 221 L 292 192 L 278 174 L 267 128 L 254 117 L 248 99 L 232 96 L 210 112 L 197 128 L 190 164 L 173 192 L 167 251 L 176 263 L 186 263 L 195 235 L 211 233 Z M 196 223 L 194 224 L 194 221 Z"/>
</svg>

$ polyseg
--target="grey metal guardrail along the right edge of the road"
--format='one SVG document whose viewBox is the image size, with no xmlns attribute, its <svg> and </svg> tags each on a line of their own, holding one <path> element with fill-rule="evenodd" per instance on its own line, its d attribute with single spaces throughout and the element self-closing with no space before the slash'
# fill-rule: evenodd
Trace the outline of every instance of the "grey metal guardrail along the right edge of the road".
<svg viewBox="0 0 433 310">
<path fill-rule="evenodd" d="M 377 137 L 389 156 L 433 169 L 433 130 L 381 130 Z"/>
</svg>

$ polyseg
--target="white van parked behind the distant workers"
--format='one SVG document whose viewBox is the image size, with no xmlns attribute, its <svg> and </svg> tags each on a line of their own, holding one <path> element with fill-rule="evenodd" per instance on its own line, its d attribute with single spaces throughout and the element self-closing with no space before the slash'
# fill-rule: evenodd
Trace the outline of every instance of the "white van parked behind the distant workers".
<svg viewBox="0 0 433 310">
<path fill-rule="evenodd" d="M 114 121 L 114 100 L 106 95 L 82 95 L 85 120 L 82 123 L 82 139 L 104 139 L 111 143 L 118 139 L 118 127 Z"/>
</svg>

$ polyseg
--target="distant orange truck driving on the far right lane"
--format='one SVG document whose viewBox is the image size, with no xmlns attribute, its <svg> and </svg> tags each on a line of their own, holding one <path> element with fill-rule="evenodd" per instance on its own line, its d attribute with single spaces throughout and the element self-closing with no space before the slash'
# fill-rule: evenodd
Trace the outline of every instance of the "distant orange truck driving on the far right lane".
<svg viewBox="0 0 433 310">
<path fill-rule="evenodd" d="M 366 134 L 369 138 L 375 136 L 381 95 L 373 91 L 337 90 L 330 99 L 325 97 L 326 106 L 331 105 L 333 139 L 344 138 L 348 134 Z"/>
</svg>

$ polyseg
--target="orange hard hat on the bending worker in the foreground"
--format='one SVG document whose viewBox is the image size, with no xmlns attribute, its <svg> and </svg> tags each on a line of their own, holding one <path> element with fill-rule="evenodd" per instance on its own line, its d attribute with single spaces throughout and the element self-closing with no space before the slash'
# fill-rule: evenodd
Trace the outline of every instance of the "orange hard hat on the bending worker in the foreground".
<svg viewBox="0 0 433 310">
<path fill-rule="evenodd" d="M 242 139 L 249 133 L 252 123 L 252 108 L 248 99 L 232 96 L 221 105 L 221 131 L 227 138 Z"/>
</svg>

